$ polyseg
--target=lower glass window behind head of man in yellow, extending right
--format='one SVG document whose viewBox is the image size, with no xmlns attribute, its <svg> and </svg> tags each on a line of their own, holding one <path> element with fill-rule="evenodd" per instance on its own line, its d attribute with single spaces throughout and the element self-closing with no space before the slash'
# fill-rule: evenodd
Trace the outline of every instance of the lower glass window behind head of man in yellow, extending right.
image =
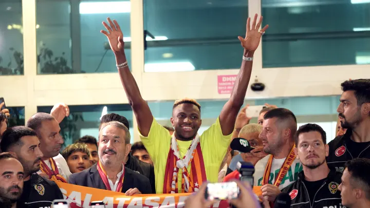
<svg viewBox="0 0 370 208">
<path fill-rule="evenodd" d="M 290 109 L 297 117 L 298 127 L 306 123 L 317 123 L 325 131 L 327 142 L 335 138 L 337 124 L 337 107 L 340 96 L 327 97 L 293 97 L 284 99 L 248 100 L 245 104 L 264 105 L 265 103 Z M 200 100 L 202 125 L 199 135 L 207 130 L 217 119 L 227 100 Z M 154 118 L 161 125 L 172 126 L 172 106 L 174 101 L 149 102 Z M 257 123 L 257 118 L 252 118 L 250 123 Z"/>
</svg>

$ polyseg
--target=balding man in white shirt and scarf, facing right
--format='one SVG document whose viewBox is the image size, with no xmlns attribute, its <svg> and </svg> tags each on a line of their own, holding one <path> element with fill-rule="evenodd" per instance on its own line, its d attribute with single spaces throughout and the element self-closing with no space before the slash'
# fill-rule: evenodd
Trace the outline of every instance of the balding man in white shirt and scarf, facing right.
<svg viewBox="0 0 370 208">
<path fill-rule="evenodd" d="M 59 154 L 64 140 L 60 135 L 58 121 L 50 114 L 38 112 L 27 121 L 26 126 L 32 128 L 40 139 L 43 154 L 40 174 L 53 181 L 67 182 L 71 172 L 65 159 Z"/>
</svg>

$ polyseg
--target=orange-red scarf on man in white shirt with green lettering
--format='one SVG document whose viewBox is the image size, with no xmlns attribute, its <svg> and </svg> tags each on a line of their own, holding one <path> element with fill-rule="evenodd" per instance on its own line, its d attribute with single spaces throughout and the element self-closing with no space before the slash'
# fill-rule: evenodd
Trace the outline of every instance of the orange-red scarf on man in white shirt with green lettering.
<svg viewBox="0 0 370 208">
<path fill-rule="evenodd" d="M 278 176 L 275 177 L 275 182 L 273 183 L 273 185 L 276 186 L 276 187 L 279 187 L 279 185 L 282 182 L 285 174 L 288 172 L 289 167 L 292 165 L 293 161 L 295 160 L 294 147 L 295 147 L 295 144 L 290 149 L 289 155 L 285 158 L 285 161 L 284 161 L 282 167 L 280 168 Z M 264 176 L 263 176 L 263 179 L 262 179 L 262 185 L 268 184 L 268 181 L 269 181 L 269 178 L 270 178 L 271 166 L 272 166 L 272 159 L 273 159 L 273 155 L 270 155 L 270 158 L 267 162 L 265 172 L 264 172 Z"/>
</svg>

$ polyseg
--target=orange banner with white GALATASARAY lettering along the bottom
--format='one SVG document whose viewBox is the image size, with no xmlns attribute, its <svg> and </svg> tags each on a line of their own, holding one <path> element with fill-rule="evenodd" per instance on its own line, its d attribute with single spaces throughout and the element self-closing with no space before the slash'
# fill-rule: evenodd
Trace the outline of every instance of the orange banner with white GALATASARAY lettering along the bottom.
<svg viewBox="0 0 370 208">
<path fill-rule="evenodd" d="M 190 194 L 145 194 L 126 196 L 124 193 L 57 182 L 72 208 L 90 208 L 91 201 L 104 201 L 106 208 L 181 208 Z M 258 188 L 253 188 L 257 191 Z M 227 201 L 217 201 L 211 207 L 227 208 Z"/>
</svg>

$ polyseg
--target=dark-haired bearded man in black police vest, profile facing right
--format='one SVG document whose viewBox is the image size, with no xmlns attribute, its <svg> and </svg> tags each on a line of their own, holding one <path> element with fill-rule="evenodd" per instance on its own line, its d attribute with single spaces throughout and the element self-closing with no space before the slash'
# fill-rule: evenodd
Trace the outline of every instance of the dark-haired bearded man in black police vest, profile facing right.
<svg viewBox="0 0 370 208">
<path fill-rule="evenodd" d="M 36 174 L 43 157 L 39 147 L 35 131 L 25 126 L 8 128 L 0 142 L 2 151 L 14 153 L 24 169 L 23 193 L 17 201 L 18 208 L 27 208 L 30 204 L 32 207 L 49 207 L 54 199 L 63 199 L 56 183 Z"/>
</svg>

